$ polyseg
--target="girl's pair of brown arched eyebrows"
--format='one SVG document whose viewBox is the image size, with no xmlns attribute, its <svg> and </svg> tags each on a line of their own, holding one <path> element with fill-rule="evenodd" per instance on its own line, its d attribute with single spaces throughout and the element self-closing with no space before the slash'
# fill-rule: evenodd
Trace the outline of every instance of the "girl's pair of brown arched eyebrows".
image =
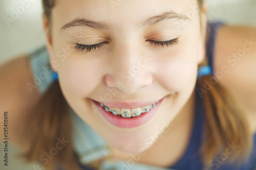
<svg viewBox="0 0 256 170">
<path fill-rule="evenodd" d="M 145 20 L 141 20 L 136 24 L 137 28 L 146 28 L 157 25 L 160 22 L 167 20 L 187 21 L 190 20 L 185 14 L 179 14 L 175 11 L 163 12 L 159 15 L 152 16 Z M 103 22 L 95 22 L 86 18 L 75 18 L 72 21 L 66 23 L 65 26 L 61 27 L 60 30 L 68 30 L 74 27 L 88 27 L 96 30 L 108 30 L 109 26 Z"/>
</svg>

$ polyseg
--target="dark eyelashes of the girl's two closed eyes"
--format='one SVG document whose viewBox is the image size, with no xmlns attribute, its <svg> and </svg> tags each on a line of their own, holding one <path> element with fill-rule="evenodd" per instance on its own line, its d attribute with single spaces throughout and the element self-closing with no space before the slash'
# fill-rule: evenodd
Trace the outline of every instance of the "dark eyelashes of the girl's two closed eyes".
<svg viewBox="0 0 256 170">
<path fill-rule="evenodd" d="M 156 46 L 160 46 L 160 47 L 164 47 L 164 46 L 172 46 L 172 45 L 177 45 L 179 44 L 179 38 L 175 38 L 172 40 L 168 40 L 168 41 L 153 41 L 153 40 L 147 40 L 150 41 L 151 45 L 156 45 Z M 105 42 L 101 42 L 98 44 L 93 44 L 93 45 L 83 45 L 83 44 L 76 44 L 75 45 L 75 50 L 77 51 L 84 51 L 86 50 L 86 52 L 90 52 L 91 50 L 96 50 L 96 48 L 101 48 L 103 46 Z"/>
</svg>

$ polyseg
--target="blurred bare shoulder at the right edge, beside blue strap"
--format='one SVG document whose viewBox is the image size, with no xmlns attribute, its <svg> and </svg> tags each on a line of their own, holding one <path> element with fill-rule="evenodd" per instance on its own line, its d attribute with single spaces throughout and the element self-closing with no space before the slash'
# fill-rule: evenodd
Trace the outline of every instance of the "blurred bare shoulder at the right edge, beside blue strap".
<svg viewBox="0 0 256 170">
<path fill-rule="evenodd" d="M 237 97 L 256 133 L 256 28 L 221 26 L 216 35 L 215 71 Z"/>
</svg>

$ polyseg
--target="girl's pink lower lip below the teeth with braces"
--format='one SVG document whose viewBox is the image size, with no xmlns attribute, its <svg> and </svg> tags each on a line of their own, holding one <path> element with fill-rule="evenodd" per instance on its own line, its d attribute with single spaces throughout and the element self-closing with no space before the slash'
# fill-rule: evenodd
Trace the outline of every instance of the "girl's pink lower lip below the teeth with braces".
<svg viewBox="0 0 256 170">
<path fill-rule="evenodd" d="M 164 98 L 163 98 L 164 99 Z M 150 111 L 146 113 L 141 113 L 140 116 L 131 117 L 131 118 L 124 118 L 120 116 L 113 115 L 111 112 L 107 112 L 104 108 L 102 108 L 99 102 L 94 100 L 93 103 L 99 109 L 100 113 L 107 119 L 112 125 L 119 127 L 119 128 L 135 128 L 140 125 L 143 125 L 148 120 L 150 120 L 154 114 L 156 113 L 158 107 L 162 103 L 163 99 L 161 99 L 154 108 L 150 109 Z"/>
</svg>

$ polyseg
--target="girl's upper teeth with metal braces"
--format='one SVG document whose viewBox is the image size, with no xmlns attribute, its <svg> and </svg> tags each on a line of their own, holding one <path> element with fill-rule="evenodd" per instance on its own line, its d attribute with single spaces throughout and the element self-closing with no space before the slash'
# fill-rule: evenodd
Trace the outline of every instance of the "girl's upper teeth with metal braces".
<svg viewBox="0 0 256 170">
<path fill-rule="evenodd" d="M 152 104 L 152 105 L 148 105 L 145 107 L 140 107 L 140 108 L 136 108 L 136 109 L 120 109 L 120 108 L 109 108 L 104 106 L 102 103 L 100 103 L 100 106 L 103 107 L 106 111 L 112 112 L 114 115 L 119 115 L 122 117 L 136 117 L 141 115 L 141 113 L 146 113 L 148 111 L 150 111 L 150 109 L 154 108 L 156 106 L 158 102 Z"/>
</svg>

